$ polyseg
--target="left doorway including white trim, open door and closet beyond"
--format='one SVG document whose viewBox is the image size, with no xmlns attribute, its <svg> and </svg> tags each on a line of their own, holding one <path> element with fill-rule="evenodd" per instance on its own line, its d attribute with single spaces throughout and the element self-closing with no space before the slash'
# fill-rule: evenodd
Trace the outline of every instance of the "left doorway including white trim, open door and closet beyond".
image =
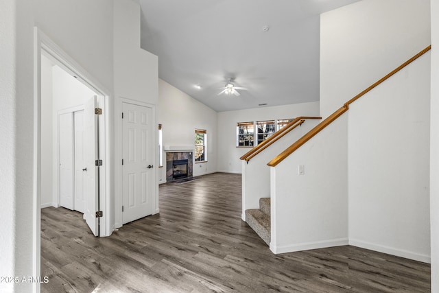
<svg viewBox="0 0 439 293">
<path fill-rule="evenodd" d="M 36 119 L 40 124 L 36 133 L 40 183 L 37 209 L 65 207 L 79 211 L 94 235 L 110 235 L 105 213 L 109 211 L 108 95 L 64 51 L 38 33 L 38 39 L 44 41 L 36 51 L 36 102 L 40 108 Z"/>
</svg>

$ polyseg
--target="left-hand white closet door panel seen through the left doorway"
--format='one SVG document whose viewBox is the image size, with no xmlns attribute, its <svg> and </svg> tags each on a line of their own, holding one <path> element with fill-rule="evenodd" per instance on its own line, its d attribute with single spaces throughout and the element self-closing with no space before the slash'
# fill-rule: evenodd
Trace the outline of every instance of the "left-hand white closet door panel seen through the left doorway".
<svg viewBox="0 0 439 293">
<path fill-rule="evenodd" d="M 60 205 L 73 210 L 73 113 L 58 115 L 58 137 Z"/>
</svg>

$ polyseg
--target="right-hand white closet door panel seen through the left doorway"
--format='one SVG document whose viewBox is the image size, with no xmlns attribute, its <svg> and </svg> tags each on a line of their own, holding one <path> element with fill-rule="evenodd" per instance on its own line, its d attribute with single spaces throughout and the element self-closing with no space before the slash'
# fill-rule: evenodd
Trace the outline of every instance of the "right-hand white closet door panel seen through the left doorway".
<svg viewBox="0 0 439 293">
<path fill-rule="evenodd" d="M 73 113 L 75 131 L 75 211 L 84 213 L 84 110 Z"/>
</svg>

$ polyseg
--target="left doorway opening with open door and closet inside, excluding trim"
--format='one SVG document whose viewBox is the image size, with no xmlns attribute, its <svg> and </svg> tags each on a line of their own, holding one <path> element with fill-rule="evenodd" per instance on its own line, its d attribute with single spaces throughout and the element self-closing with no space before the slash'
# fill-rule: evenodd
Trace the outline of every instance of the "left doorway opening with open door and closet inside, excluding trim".
<svg viewBox="0 0 439 293">
<path fill-rule="evenodd" d="M 95 161 L 100 133 L 95 109 L 102 98 L 54 56 L 46 52 L 41 60 L 41 121 L 46 126 L 41 135 L 49 138 L 41 148 L 41 165 L 47 170 L 41 174 L 41 204 L 80 211 L 98 236 L 100 166 Z"/>
</svg>

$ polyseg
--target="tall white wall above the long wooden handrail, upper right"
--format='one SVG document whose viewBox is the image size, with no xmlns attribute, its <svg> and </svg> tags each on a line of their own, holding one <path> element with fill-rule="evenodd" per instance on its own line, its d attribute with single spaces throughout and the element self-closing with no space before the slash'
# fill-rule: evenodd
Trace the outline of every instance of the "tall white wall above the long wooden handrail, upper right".
<svg viewBox="0 0 439 293">
<path fill-rule="evenodd" d="M 429 27 L 429 0 L 359 1 L 321 14 L 322 117 L 427 47 Z"/>
</svg>

